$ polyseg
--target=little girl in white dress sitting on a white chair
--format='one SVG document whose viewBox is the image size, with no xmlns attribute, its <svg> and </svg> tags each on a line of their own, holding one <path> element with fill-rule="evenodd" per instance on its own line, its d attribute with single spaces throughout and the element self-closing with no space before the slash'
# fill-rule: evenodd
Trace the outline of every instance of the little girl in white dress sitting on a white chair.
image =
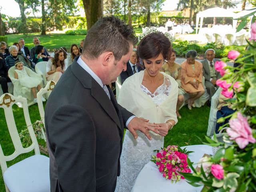
<svg viewBox="0 0 256 192">
<path fill-rule="evenodd" d="M 36 88 L 40 91 L 41 86 L 41 79 L 36 77 L 30 77 L 26 72 L 26 69 L 23 67 L 23 62 L 17 61 L 15 63 L 15 70 L 14 70 L 14 78 L 20 80 L 20 84 L 24 87 L 31 88 L 34 102 L 37 103 L 37 96 L 36 96 Z M 44 97 L 42 97 L 42 101 L 46 101 Z"/>
</svg>

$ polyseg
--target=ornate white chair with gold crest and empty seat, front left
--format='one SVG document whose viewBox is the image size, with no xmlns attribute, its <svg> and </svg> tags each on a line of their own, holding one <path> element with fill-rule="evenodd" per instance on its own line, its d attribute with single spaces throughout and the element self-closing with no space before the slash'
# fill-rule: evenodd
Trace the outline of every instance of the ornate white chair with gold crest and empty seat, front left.
<svg viewBox="0 0 256 192">
<path fill-rule="evenodd" d="M 32 144 L 26 148 L 22 146 L 20 136 L 14 121 L 12 111 L 13 104 L 22 102 L 26 126 L 32 141 Z M 4 178 L 6 192 L 49 192 L 50 176 L 48 157 L 40 155 L 40 150 L 36 136 L 28 114 L 28 103 L 22 96 L 15 97 L 11 94 L 3 94 L 0 97 L 0 108 L 4 109 L 6 124 L 12 139 L 15 151 L 8 156 L 4 155 L 3 145 L 0 145 L 0 165 Z M 35 155 L 30 156 L 16 164 L 7 167 L 6 162 L 18 157 L 20 154 L 28 153 L 34 150 Z"/>
</svg>

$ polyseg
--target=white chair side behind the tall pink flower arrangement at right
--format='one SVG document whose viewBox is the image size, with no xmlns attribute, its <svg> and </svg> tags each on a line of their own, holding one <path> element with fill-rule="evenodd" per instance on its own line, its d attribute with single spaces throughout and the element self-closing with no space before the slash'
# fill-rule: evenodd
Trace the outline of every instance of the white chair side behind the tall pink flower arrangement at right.
<svg viewBox="0 0 256 192">
<path fill-rule="evenodd" d="M 220 92 L 221 92 L 221 88 L 218 88 L 215 92 L 215 94 L 212 96 L 212 100 L 211 100 L 211 108 L 210 108 L 210 114 L 209 114 L 209 120 L 208 120 L 208 128 L 207 128 L 207 133 L 206 135 L 208 137 L 213 136 L 214 132 L 215 132 L 215 127 L 216 127 L 216 123 L 217 123 L 217 118 L 216 118 L 216 114 L 218 111 L 218 104 L 219 104 L 219 96 L 220 96 Z"/>
</svg>

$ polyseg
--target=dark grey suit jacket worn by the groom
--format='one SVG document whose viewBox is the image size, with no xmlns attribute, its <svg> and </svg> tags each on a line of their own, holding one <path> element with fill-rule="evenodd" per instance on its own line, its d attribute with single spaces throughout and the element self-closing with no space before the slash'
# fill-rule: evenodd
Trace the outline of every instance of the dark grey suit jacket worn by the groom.
<svg viewBox="0 0 256 192">
<path fill-rule="evenodd" d="M 51 191 L 114 192 L 124 124 L 131 114 L 77 62 L 50 94 L 45 125 Z"/>
</svg>

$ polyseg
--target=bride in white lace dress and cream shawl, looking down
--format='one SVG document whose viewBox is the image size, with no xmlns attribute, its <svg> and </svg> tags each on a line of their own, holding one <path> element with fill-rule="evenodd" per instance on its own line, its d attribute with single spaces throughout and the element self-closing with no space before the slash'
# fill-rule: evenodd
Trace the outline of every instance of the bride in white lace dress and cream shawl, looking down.
<svg viewBox="0 0 256 192">
<path fill-rule="evenodd" d="M 136 177 L 150 161 L 153 150 L 164 147 L 164 136 L 178 122 L 178 84 L 174 78 L 160 72 L 164 60 L 168 60 L 170 47 L 170 41 L 161 32 L 145 36 L 138 46 L 138 56 L 143 60 L 145 70 L 127 78 L 120 90 L 118 103 L 136 116 L 158 124 L 159 134 L 152 133 L 152 140 L 148 140 L 138 132 L 135 140 L 126 131 L 116 192 L 132 190 Z"/>
</svg>

